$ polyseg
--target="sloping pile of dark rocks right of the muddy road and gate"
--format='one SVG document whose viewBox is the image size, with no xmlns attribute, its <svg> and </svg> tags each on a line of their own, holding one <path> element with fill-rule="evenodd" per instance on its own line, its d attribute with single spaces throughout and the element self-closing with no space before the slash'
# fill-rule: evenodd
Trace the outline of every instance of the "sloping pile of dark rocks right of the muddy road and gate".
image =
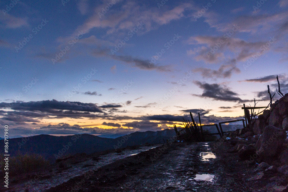
<svg viewBox="0 0 288 192">
<path fill-rule="evenodd" d="M 252 180 L 268 180 L 267 189 L 288 191 L 288 94 L 232 135 L 240 159 L 254 165 Z M 238 137 L 237 137 L 238 136 Z"/>
</svg>

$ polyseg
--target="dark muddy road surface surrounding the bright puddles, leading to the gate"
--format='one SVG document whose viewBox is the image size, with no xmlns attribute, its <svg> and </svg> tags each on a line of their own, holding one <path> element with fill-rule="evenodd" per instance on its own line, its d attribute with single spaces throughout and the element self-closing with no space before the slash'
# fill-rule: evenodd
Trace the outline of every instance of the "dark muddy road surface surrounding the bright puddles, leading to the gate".
<svg viewBox="0 0 288 192">
<path fill-rule="evenodd" d="M 219 147 L 213 144 L 215 142 L 162 145 L 90 170 L 46 191 L 268 191 L 265 180 L 248 180 L 255 175 L 256 164 L 240 161 L 227 141 Z M 201 153 L 205 155 L 211 149 L 216 158 L 203 161 Z M 212 178 L 196 180 L 200 174 L 209 174 Z"/>
</svg>

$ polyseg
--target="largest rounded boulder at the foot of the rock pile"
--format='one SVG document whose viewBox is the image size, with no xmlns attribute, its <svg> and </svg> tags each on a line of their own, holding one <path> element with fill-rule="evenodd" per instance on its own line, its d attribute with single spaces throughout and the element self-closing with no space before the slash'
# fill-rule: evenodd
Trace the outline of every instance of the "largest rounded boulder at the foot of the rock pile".
<svg viewBox="0 0 288 192">
<path fill-rule="evenodd" d="M 273 157 L 279 154 L 286 137 L 286 132 L 283 129 L 266 126 L 255 145 L 257 155 L 264 161 L 271 161 Z"/>
</svg>

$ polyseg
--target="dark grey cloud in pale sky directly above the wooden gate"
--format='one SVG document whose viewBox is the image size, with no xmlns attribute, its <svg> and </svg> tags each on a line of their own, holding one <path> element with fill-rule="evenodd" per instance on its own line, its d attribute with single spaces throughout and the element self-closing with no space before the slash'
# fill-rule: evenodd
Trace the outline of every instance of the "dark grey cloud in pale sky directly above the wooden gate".
<svg viewBox="0 0 288 192">
<path fill-rule="evenodd" d="M 201 83 L 200 81 L 194 81 L 194 83 L 201 89 L 203 89 L 202 95 L 192 94 L 193 96 L 213 98 L 220 101 L 233 101 L 233 102 L 246 102 L 249 100 L 242 100 L 238 97 L 236 92 L 231 91 L 229 88 L 221 86 L 217 83 Z"/>
</svg>

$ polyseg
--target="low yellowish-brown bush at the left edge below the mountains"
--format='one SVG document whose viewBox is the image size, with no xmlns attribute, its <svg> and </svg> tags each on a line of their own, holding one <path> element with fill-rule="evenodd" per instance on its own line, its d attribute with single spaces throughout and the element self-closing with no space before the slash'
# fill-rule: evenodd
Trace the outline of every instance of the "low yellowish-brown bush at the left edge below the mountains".
<svg viewBox="0 0 288 192">
<path fill-rule="evenodd" d="M 5 166 L 4 158 L 1 158 L 0 164 L 1 167 Z M 11 174 L 27 173 L 48 165 L 49 162 L 46 159 L 34 153 L 18 154 L 15 157 L 9 157 L 9 172 Z"/>
</svg>

